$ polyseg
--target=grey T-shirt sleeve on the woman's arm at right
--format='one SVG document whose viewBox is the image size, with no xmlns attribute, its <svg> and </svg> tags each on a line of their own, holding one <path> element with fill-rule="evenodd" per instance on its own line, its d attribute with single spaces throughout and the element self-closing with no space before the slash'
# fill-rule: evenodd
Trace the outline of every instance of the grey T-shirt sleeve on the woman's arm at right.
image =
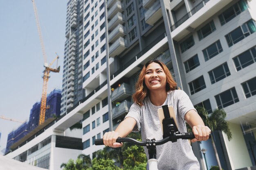
<svg viewBox="0 0 256 170">
<path fill-rule="evenodd" d="M 178 111 L 181 114 L 182 119 L 185 121 L 185 114 L 190 110 L 195 110 L 189 96 L 183 90 L 177 90 L 177 107 Z"/>
</svg>

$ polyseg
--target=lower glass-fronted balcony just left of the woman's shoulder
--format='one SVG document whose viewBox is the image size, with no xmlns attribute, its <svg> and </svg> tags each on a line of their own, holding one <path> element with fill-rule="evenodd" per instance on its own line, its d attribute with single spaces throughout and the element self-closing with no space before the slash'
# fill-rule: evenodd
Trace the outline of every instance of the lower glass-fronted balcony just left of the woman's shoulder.
<svg viewBox="0 0 256 170">
<path fill-rule="evenodd" d="M 112 119 L 115 119 L 125 113 L 128 113 L 130 107 L 131 107 L 132 103 L 124 100 L 122 101 L 119 105 L 117 105 L 116 107 L 113 107 L 112 109 Z"/>
</svg>

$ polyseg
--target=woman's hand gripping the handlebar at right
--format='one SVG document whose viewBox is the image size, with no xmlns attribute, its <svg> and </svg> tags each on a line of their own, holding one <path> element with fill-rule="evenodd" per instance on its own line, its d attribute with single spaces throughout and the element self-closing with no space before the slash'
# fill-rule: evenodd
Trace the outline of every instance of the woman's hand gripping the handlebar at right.
<svg viewBox="0 0 256 170">
<path fill-rule="evenodd" d="M 192 139 L 191 142 L 197 142 L 202 140 L 208 140 L 211 129 L 208 126 L 197 125 L 193 126 L 192 132 L 194 133 L 195 138 Z"/>
</svg>

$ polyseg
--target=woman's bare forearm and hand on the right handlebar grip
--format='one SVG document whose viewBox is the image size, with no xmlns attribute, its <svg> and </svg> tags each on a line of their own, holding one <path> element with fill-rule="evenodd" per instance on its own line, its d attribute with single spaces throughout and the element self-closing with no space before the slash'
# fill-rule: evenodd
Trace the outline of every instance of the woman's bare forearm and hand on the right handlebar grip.
<svg viewBox="0 0 256 170">
<path fill-rule="evenodd" d="M 185 114 L 185 120 L 191 126 L 195 138 L 191 142 L 202 141 L 209 139 L 211 129 L 204 125 L 202 118 L 195 110 L 190 110 Z"/>
</svg>

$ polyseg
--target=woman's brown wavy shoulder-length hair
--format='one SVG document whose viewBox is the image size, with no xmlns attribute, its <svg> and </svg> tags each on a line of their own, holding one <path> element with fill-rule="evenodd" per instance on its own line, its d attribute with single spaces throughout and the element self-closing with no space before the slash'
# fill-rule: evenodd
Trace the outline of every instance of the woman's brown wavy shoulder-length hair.
<svg viewBox="0 0 256 170">
<path fill-rule="evenodd" d="M 166 87 L 165 87 L 166 92 L 175 90 L 175 88 L 177 87 L 177 83 L 173 80 L 173 76 L 171 75 L 171 72 L 168 70 L 167 66 L 162 61 L 150 60 L 143 66 L 143 68 L 139 74 L 139 79 L 135 85 L 136 92 L 132 95 L 133 101 L 136 104 L 138 104 L 139 106 L 142 106 L 144 98 L 149 96 L 149 90 L 146 87 L 144 77 L 146 75 L 146 68 L 151 63 L 159 64 L 162 67 L 162 69 L 164 70 L 164 73 L 166 74 Z"/>
</svg>

